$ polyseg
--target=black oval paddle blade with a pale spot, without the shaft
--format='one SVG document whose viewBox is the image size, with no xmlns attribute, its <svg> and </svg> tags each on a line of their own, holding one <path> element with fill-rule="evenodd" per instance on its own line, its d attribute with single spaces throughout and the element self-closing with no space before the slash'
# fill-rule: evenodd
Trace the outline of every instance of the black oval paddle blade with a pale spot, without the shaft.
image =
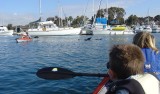
<svg viewBox="0 0 160 94">
<path fill-rule="evenodd" d="M 42 68 L 38 70 L 36 73 L 38 77 L 46 80 L 59 80 L 59 79 L 73 78 L 75 77 L 73 74 L 74 72 L 64 68 L 59 68 L 59 67 Z"/>
</svg>

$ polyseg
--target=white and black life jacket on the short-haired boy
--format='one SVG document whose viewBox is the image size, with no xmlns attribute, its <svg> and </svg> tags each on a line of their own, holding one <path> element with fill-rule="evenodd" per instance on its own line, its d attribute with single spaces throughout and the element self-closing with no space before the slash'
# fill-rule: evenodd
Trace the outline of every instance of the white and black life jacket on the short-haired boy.
<svg viewBox="0 0 160 94">
<path fill-rule="evenodd" d="M 151 74 L 134 75 L 106 85 L 106 94 L 115 94 L 118 90 L 126 90 L 129 94 L 160 94 L 160 82 Z"/>
</svg>

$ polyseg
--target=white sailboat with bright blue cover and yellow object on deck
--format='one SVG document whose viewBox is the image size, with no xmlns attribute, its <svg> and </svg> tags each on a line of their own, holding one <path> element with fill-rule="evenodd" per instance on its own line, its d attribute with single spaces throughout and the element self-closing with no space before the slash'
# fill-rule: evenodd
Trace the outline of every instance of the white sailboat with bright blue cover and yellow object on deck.
<svg viewBox="0 0 160 94">
<path fill-rule="evenodd" d="M 99 9 L 101 6 L 101 1 L 99 4 Z M 132 30 L 129 30 L 126 26 L 114 26 L 110 27 L 107 24 L 108 21 L 108 0 L 107 0 L 107 12 L 105 14 L 104 18 L 94 18 L 93 24 L 91 26 L 85 26 L 81 30 L 81 34 L 90 34 L 92 33 L 93 35 L 98 35 L 98 34 L 134 34 Z M 123 28 L 123 29 L 122 29 Z"/>
</svg>

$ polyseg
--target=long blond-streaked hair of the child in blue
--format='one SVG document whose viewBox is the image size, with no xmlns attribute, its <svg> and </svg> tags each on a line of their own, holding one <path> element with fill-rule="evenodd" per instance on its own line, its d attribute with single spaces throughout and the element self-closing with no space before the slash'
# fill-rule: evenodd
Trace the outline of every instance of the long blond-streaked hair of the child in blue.
<svg viewBox="0 0 160 94">
<path fill-rule="evenodd" d="M 155 38 L 149 32 L 139 32 L 133 38 L 133 44 L 139 46 L 140 48 L 151 48 L 158 52 L 155 44 Z"/>
</svg>

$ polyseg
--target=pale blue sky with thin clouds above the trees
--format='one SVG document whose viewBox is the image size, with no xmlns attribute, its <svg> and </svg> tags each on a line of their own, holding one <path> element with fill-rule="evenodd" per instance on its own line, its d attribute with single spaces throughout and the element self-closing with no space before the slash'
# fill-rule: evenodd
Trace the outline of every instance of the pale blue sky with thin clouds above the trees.
<svg viewBox="0 0 160 94">
<path fill-rule="evenodd" d="M 94 3 L 93 3 L 94 1 Z M 138 17 L 160 15 L 160 0 L 0 0 L 0 25 L 26 25 L 39 17 L 91 16 L 100 8 L 121 7 Z M 108 2 L 108 3 L 107 3 Z M 41 8 L 40 8 L 41 6 Z M 63 12 L 62 12 L 63 11 Z M 41 13 L 40 13 L 41 12 Z M 41 14 L 41 15 L 40 15 Z"/>
</svg>

